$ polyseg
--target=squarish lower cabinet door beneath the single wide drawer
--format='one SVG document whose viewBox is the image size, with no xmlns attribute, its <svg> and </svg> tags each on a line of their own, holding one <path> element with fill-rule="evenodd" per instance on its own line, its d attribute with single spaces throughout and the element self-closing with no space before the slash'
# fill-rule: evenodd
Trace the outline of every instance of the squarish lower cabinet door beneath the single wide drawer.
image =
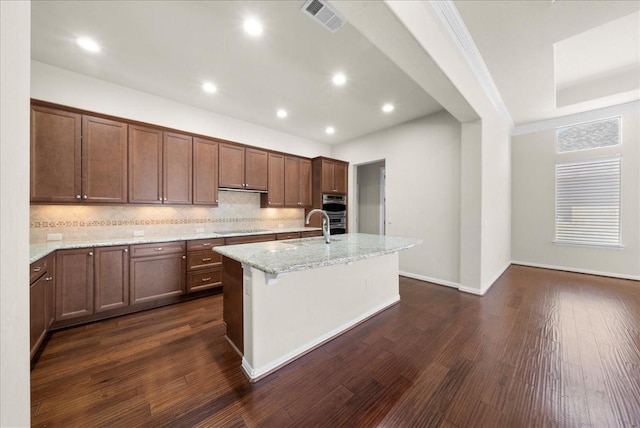
<svg viewBox="0 0 640 428">
<path fill-rule="evenodd" d="M 131 304 L 183 294 L 186 256 L 166 254 L 130 259 Z"/>
</svg>

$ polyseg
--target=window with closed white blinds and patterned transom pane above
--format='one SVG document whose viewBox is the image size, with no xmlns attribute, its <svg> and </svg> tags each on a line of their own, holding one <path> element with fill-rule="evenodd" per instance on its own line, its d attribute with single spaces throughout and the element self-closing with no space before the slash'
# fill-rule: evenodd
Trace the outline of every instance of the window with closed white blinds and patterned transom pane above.
<svg viewBox="0 0 640 428">
<path fill-rule="evenodd" d="M 620 144 L 620 118 L 558 128 L 557 137 L 558 158 L 571 161 L 556 164 L 555 242 L 620 246 L 622 162 L 603 157 Z"/>
</svg>

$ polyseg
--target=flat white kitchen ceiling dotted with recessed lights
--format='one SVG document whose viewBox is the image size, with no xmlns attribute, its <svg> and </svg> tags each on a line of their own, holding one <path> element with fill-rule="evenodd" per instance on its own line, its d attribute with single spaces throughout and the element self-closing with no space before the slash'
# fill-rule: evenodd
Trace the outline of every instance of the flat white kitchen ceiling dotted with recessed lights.
<svg viewBox="0 0 640 428">
<path fill-rule="evenodd" d="M 298 1 L 35 1 L 34 60 L 324 143 L 441 110 L 348 23 L 332 34 Z M 259 39 L 245 17 L 265 27 Z M 90 36 L 89 54 L 75 44 Z M 334 72 L 348 78 L 331 83 Z M 205 94 L 202 83 L 218 92 Z M 385 102 L 395 104 L 384 114 Z M 286 119 L 276 117 L 286 108 Z M 334 135 L 325 127 L 332 125 Z"/>
</svg>

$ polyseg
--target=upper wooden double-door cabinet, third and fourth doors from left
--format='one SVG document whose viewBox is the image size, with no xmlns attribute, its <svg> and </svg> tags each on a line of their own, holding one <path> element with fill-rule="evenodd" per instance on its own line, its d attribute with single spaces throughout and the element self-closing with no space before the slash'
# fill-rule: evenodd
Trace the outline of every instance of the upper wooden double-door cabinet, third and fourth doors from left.
<svg viewBox="0 0 640 428">
<path fill-rule="evenodd" d="M 129 202 L 190 204 L 192 137 L 129 126 Z"/>
</svg>

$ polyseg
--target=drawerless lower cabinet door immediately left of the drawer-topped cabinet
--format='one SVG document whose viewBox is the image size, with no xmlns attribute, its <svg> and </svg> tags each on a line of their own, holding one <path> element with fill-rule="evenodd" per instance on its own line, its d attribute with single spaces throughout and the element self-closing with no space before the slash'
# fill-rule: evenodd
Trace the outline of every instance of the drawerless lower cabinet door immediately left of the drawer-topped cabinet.
<svg viewBox="0 0 640 428">
<path fill-rule="evenodd" d="M 129 306 L 129 247 L 96 248 L 96 312 Z"/>
</svg>

